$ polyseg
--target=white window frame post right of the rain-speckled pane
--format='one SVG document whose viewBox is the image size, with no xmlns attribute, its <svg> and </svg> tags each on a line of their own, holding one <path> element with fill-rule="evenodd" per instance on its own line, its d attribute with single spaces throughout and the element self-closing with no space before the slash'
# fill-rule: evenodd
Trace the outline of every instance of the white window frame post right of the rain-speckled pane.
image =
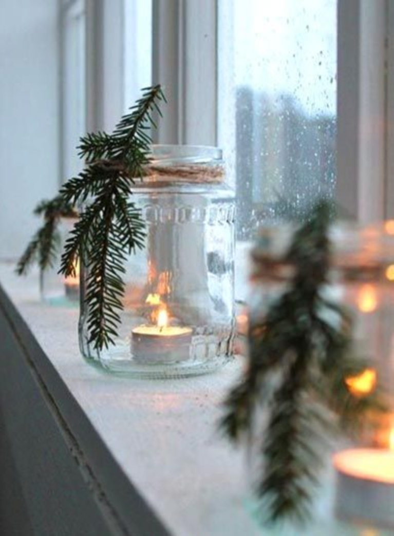
<svg viewBox="0 0 394 536">
<path fill-rule="evenodd" d="M 361 222 L 385 215 L 386 0 L 338 2 L 337 199 Z"/>
</svg>

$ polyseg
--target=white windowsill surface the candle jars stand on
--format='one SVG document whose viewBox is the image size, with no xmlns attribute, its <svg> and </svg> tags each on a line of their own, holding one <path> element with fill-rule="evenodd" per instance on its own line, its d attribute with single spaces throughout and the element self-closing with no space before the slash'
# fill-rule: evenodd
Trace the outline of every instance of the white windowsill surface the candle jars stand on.
<svg viewBox="0 0 394 536">
<path fill-rule="evenodd" d="M 239 362 L 215 374 L 173 381 L 136 380 L 103 373 L 85 363 L 79 354 L 77 309 L 51 308 L 40 303 L 37 278 L 18 279 L 12 269 L 12 265 L 0 264 L 0 281 L 44 353 L 44 360 L 33 363 L 33 368 L 41 378 L 48 378 L 46 389 L 55 399 L 56 411 L 66 421 L 73 437 L 84 437 L 86 447 L 89 436 L 78 428 L 84 422 L 78 418 L 79 412 L 102 440 L 101 466 L 97 465 L 95 448 L 85 448 L 85 453 L 79 452 L 77 456 L 73 453 L 73 456 L 79 465 L 78 456 L 84 456 L 83 464 L 90 467 L 95 480 L 92 493 L 95 487 L 103 492 L 112 509 L 111 515 L 115 512 L 115 518 L 122 518 L 124 511 L 129 511 L 131 519 L 146 515 L 137 508 L 138 501 L 134 505 L 122 505 L 119 498 L 122 496 L 113 494 L 116 485 L 106 489 L 106 482 L 110 481 L 108 472 L 113 471 L 116 480 L 120 469 L 128 485 L 137 490 L 170 534 L 283 534 L 259 530 L 252 520 L 246 507 L 244 450 L 233 449 L 216 431 L 220 402 L 239 374 Z M 4 303 L 0 302 L 0 306 Z M 9 304 L 0 307 L 0 315 L 3 310 L 8 317 L 7 308 L 11 309 Z M 18 330 L 18 315 L 11 312 L 10 317 L 14 329 Z M 56 377 L 47 375 L 47 366 L 54 367 Z M 66 390 L 60 390 L 57 382 L 62 382 Z M 72 412 L 68 398 L 77 402 Z M 96 441 L 94 434 L 91 434 L 92 442 Z M 339 534 L 336 531 L 341 528 L 332 521 L 330 508 L 326 501 L 319 505 L 322 519 L 311 532 L 304 531 L 304 536 Z M 130 534 L 142 534 L 134 532 L 136 527 L 129 527 L 128 520 L 123 522 L 130 528 Z M 346 534 L 360 532 L 350 529 Z"/>
</svg>

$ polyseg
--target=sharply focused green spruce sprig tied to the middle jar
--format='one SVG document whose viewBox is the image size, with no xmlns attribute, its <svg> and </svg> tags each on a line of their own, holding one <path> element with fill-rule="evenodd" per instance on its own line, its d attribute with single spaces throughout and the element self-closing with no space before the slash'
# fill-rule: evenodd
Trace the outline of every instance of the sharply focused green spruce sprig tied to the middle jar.
<svg viewBox="0 0 394 536">
<path fill-rule="evenodd" d="M 93 348 L 115 343 L 121 322 L 126 256 L 144 247 L 142 214 L 130 201 L 130 187 L 143 178 L 150 161 L 152 111 L 165 101 L 159 85 L 145 88 L 142 98 L 122 117 L 114 132 L 81 138 L 79 154 L 87 167 L 61 189 L 66 202 L 86 204 L 66 240 L 60 273 L 75 275 L 82 257 L 85 268 L 87 326 Z"/>
</svg>

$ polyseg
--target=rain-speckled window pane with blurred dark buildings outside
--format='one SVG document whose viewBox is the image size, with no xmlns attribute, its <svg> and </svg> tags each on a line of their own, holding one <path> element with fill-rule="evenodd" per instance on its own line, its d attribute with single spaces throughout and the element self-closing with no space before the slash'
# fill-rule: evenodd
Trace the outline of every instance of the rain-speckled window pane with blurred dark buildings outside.
<svg viewBox="0 0 394 536">
<path fill-rule="evenodd" d="M 333 196 L 337 0 L 218 5 L 219 144 L 248 239 L 256 224 Z"/>
</svg>

